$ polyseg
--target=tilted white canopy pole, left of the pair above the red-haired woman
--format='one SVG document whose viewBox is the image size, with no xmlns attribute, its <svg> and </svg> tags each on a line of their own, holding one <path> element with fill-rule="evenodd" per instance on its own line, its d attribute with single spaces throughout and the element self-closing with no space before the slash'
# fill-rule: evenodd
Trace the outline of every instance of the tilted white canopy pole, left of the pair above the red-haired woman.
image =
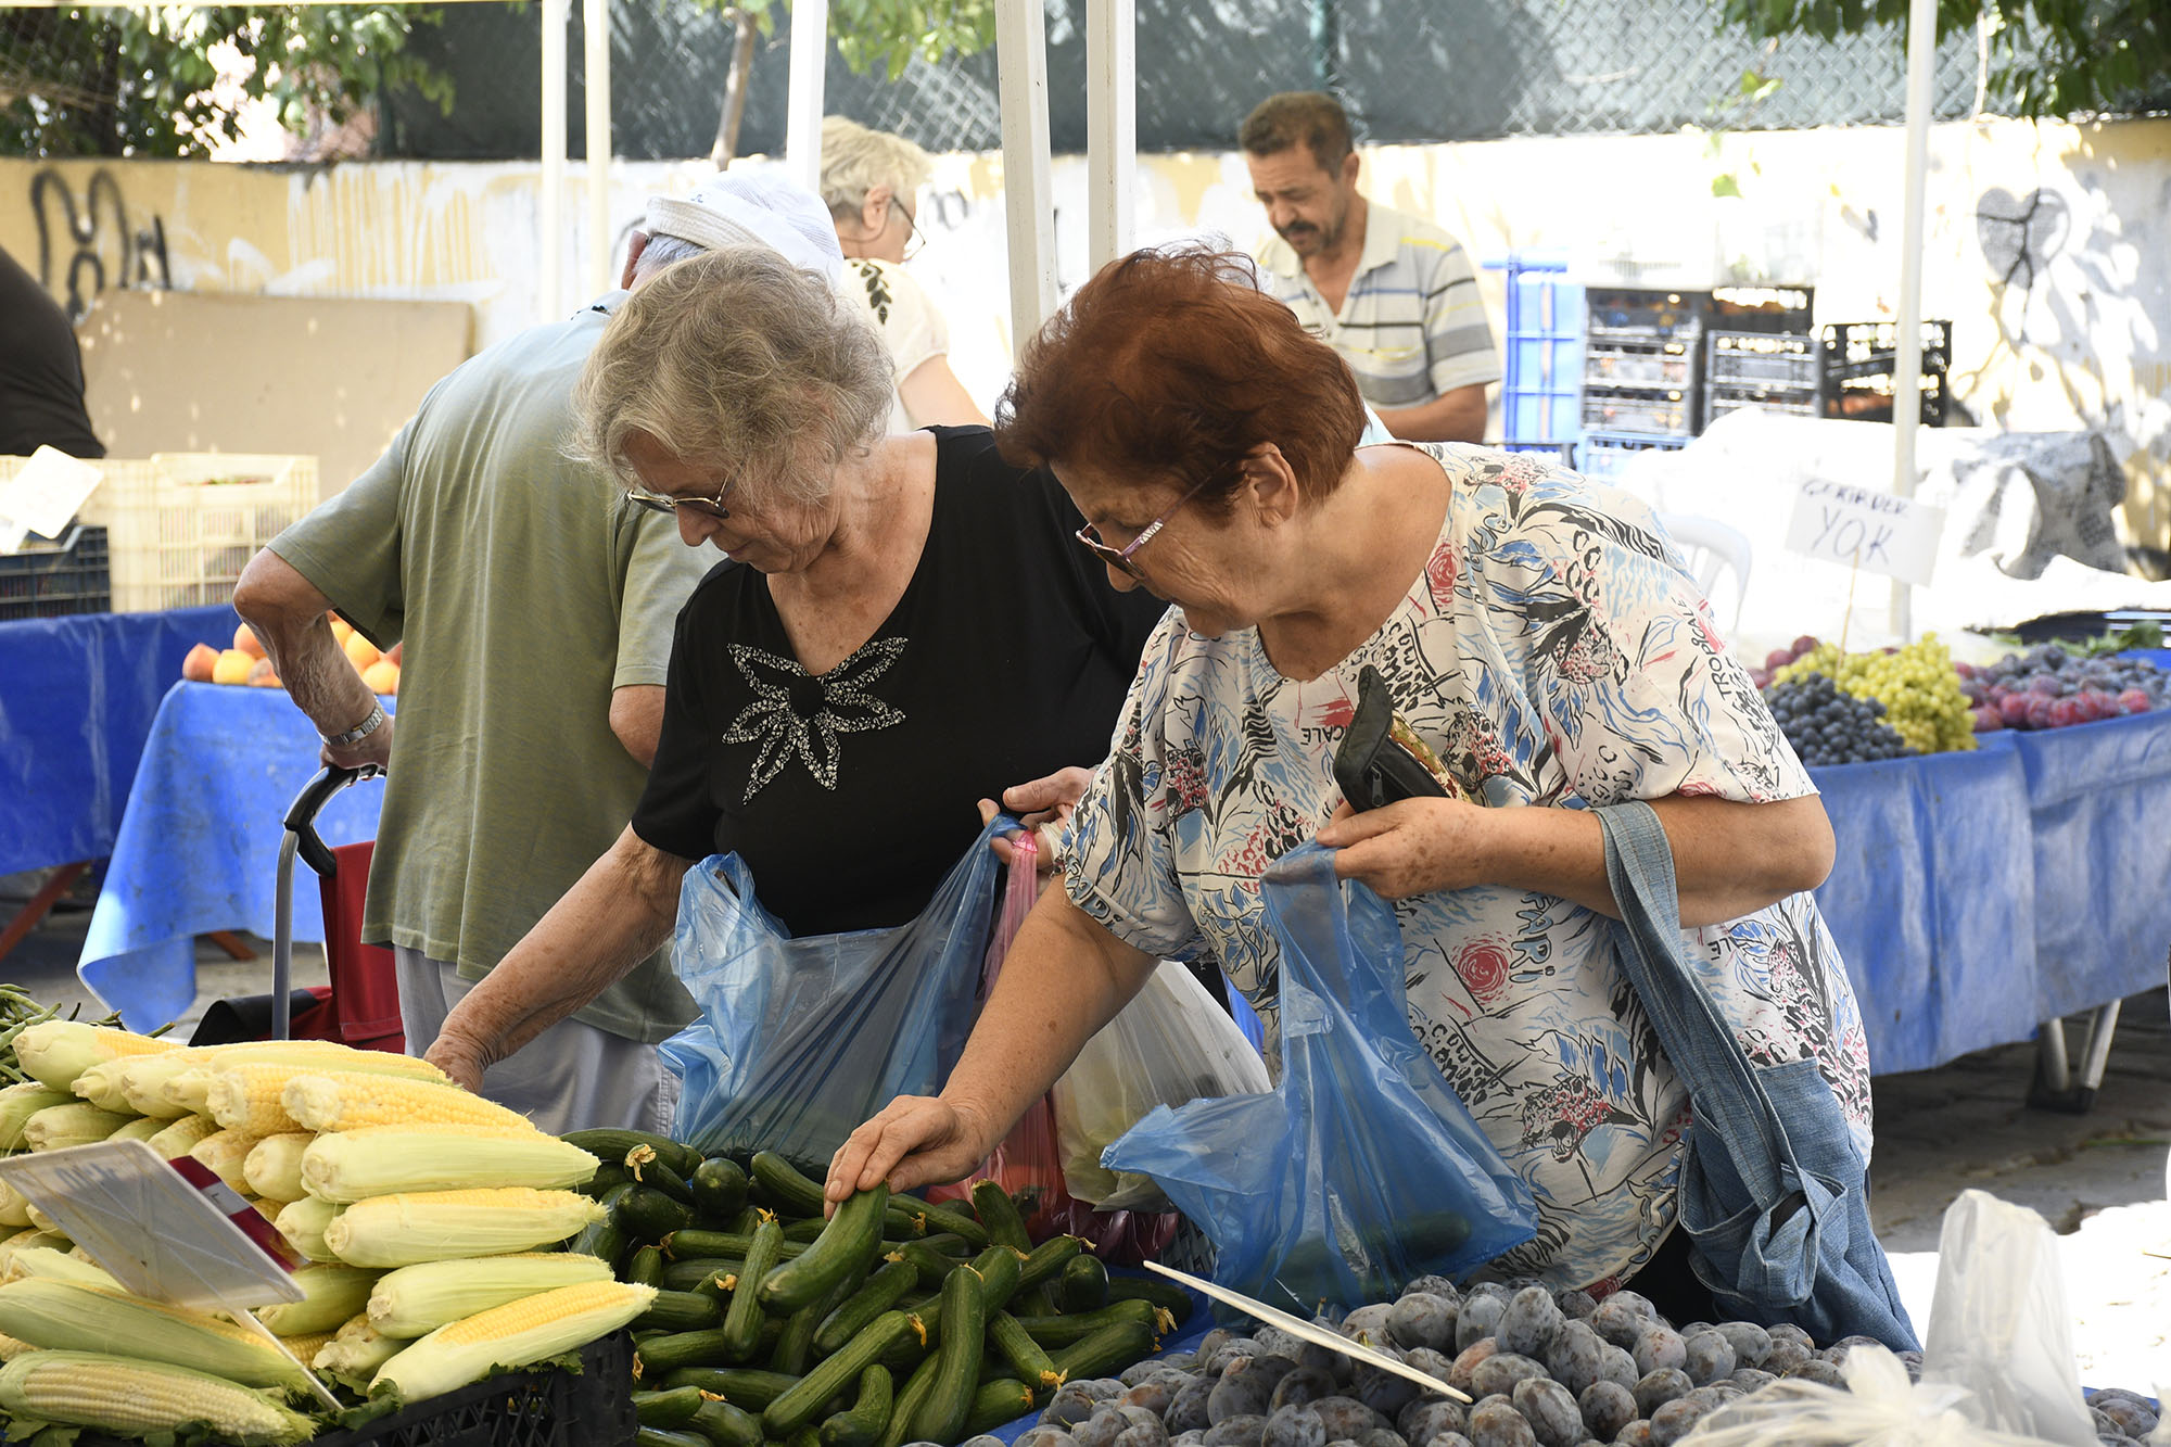
<svg viewBox="0 0 2171 1447">
<path fill-rule="evenodd" d="M 1003 213 L 1010 219 L 1010 350 L 1055 315 L 1055 185 L 1049 167 L 1049 35 L 1042 0 L 996 0 Z"/>
</svg>

